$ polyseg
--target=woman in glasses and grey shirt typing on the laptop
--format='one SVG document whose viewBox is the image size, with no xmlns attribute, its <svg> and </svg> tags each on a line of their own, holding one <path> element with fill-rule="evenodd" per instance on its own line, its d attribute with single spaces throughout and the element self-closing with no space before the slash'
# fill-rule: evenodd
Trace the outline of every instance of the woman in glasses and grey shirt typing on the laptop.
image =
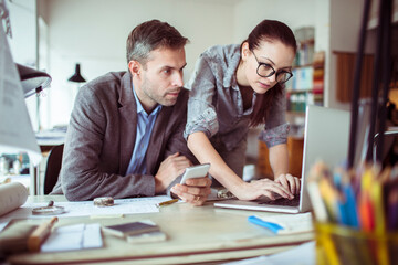
<svg viewBox="0 0 398 265">
<path fill-rule="evenodd" d="M 212 46 L 199 57 L 188 83 L 185 137 L 209 173 L 240 200 L 277 193 L 293 199 L 300 180 L 287 173 L 285 93 L 296 53 L 292 30 L 264 20 L 239 45 Z M 249 127 L 264 124 L 259 139 L 266 142 L 275 180 L 241 179 Z"/>
</svg>

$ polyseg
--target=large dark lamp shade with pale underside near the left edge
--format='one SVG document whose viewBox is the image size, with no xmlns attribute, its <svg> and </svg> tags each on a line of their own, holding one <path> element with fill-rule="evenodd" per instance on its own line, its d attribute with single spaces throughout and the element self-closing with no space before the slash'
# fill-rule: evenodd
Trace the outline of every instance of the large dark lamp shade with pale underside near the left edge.
<svg viewBox="0 0 398 265">
<path fill-rule="evenodd" d="M 17 64 L 21 78 L 24 97 L 40 93 L 51 83 L 51 76 L 48 73 Z"/>
</svg>

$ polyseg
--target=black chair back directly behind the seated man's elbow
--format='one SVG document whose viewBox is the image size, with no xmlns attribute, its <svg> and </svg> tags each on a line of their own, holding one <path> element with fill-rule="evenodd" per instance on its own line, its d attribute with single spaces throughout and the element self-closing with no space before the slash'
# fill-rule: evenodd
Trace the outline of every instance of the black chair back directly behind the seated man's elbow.
<svg viewBox="0 0 398 265">
<path fill-rule="evenodd" d="M 53 190 L 59 179 L 63 147 L 64 145 L 55 146 L 50 151 L 44 174 L 44 194 L 49 194 Z"/>
</svg>

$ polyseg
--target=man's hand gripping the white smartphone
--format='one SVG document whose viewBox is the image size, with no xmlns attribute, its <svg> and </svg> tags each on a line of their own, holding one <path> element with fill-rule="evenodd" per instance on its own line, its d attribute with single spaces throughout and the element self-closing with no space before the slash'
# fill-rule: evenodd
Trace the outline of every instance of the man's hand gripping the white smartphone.
<svg viewBox="0 0 398 265">
<path fill-rule="evenodd" d="M 188 179 L 185 184 L 176 184 L 171 192 L 196 206 L 203 205 L 210 194 L 211 180 L 208 177 Z"/>
</svg>

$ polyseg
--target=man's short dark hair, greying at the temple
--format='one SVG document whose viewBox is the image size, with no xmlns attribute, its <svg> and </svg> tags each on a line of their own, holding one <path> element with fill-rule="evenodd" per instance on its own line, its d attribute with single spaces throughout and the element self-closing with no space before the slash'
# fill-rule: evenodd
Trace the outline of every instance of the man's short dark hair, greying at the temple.
<svg viewBox="0 0 398 265">
<path fill-rule="evenodd" d="M 184 47 L 187 42 L 188 39 L 167 22 L 159 20 L 144 22 L 128 34 L 127 64 L 130 61 L 137 61 L 145 66 L 151 51 L 159 47 L 177 50 Z"/>
</svg>

